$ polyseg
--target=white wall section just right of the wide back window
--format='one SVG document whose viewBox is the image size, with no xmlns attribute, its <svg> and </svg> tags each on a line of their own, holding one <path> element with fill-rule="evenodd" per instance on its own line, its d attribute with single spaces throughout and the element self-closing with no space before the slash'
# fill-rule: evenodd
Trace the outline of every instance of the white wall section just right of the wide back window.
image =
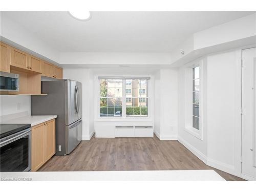
<svg viewBox="0 0 256 192">
<path fill-rule="evenodd" d="M 155 74 L 155 134 L 159 139 L 177 139 L 177 69 L 160 69 Z"/>
</svg>

